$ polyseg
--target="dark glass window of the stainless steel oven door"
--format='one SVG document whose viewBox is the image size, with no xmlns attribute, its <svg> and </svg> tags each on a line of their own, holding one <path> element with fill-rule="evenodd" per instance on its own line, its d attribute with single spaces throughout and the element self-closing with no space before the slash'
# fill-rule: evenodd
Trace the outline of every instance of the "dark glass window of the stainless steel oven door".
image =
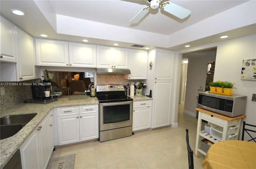
<svg viewBox="0 0 256 169">
<path fill-rule="evenodd" d="M 104 106 L 103 123 L 117 123 L 130 120 L 130 104 Z"/>
</svg>

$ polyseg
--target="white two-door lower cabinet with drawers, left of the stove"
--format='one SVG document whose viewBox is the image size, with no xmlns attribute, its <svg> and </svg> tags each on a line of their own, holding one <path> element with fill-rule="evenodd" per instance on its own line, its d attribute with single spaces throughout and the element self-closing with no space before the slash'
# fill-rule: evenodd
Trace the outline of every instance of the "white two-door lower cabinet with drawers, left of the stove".
<svg viewBox="0 0 256 169">
<path fill-rule="evenodd" d="M 57 108 L 58 145 L 99 138 L 98 107 L 94 104 Z"/>
</svg>

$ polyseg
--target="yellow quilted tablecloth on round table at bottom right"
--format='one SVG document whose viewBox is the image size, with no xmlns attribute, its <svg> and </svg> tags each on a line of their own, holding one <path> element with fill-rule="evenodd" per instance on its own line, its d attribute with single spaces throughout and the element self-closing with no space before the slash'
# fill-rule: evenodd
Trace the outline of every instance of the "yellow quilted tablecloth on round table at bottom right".
<svg viewBox="0 0 256 169">
<path fill-rule="evenodd" d="M 256 143 L 240 140 L 213 144 L 201 162 L 204 169 L 256 169 Z"/>
</svg>

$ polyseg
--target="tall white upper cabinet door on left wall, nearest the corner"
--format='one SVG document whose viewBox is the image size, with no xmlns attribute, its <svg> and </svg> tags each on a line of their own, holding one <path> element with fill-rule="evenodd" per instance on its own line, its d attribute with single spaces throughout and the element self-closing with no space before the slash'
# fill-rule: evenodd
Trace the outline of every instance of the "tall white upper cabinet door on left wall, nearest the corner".
<svg viewBox="0 0 256 169">
<path fill-rule="evenodd" d="M 17 28 L 17 81 L 36 79 L 33 37 Z"/>
</svg>

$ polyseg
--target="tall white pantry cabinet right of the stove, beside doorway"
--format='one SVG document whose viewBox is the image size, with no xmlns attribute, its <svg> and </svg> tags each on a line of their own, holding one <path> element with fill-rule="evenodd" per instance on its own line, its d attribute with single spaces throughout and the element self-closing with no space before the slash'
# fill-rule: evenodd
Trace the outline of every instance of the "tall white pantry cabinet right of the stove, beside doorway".
<svg viewBox="0 0 256 169">
<path fill-rule="evenodd" d="M 171 124 L 174 51 L 152 49 L 148 51 L 147 90 L 152 90 L 151 128 Z M 149 91 L 147 91 L 149 93 Z"/>
</svg>

